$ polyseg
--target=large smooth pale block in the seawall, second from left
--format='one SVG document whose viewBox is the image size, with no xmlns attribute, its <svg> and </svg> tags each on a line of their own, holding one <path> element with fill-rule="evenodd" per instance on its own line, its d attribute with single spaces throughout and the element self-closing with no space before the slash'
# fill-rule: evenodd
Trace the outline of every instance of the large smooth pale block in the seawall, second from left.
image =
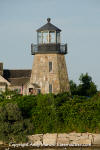
<svg viewBox="0 0 100 150">
<path fill-rule="evenodd" d="M 56 146 L 57 134 L 44 134 L 43 135 L 43 146 Z"/>
</svg>

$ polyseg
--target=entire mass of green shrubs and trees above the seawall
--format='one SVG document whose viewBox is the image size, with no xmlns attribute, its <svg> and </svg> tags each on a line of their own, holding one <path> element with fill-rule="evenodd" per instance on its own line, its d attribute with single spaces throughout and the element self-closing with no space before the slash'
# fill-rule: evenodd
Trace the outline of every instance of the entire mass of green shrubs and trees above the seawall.
<svg viewBox="0 0 100 150">
<path fill-rule="evenodd" d="M 25 142 L 26 135 L 47 132 L 100 133 L 100 92 L 97 92 L 91 78 L 88 78 L 89 82 L 83 79 L 81 78 L 82 83 L 79 85 L 80 89 L 84 90 L 82 95 L 74 93 L 77 85 L 74 90 L 71 85 L 72 95 L 62 93 L 21 96 L 10 91 L 2 93 L 0 140 Z M 93 90 L 91 83 L 95 89 L 94 93 L 87 92 Z"/>
</svg>

